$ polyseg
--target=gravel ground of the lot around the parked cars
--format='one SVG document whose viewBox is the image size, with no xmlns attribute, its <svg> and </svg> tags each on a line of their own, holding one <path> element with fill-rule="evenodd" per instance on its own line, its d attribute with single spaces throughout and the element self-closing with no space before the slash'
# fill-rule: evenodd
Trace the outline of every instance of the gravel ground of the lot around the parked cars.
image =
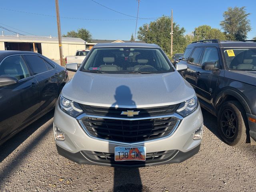
<svg viewBox="0 0 256 192">
<path fill-rule="evenodd" d="M 180 164 L 138 169 L 79 165 L 58 155 L 49 112 L 0 146 L 0 191 L 256 191 L 256 146 L 233 148 L 203 110 L 200 152 Z"/>
</svg>

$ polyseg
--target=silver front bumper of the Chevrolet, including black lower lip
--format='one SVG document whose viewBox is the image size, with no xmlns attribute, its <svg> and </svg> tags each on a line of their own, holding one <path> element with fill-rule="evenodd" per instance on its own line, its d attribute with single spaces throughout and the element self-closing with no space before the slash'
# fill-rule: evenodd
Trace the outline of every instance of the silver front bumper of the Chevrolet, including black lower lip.
<svg viewBox="0 0 256 192">
<path fill-rule="evenodd" d="M 124 143 L 92 138 L 86 134 L 78 120 L 63 112 L 58 105 L 54 114 L 54 126 L 62 130 L 65 135 L 64 141 L 55 140 L 58 153 L 79 164 L 102 166 L 140 167 L 182 162 L 198 152 L 201 140 L 193 140 L 193 135 L 202 124 L 202 112 L 198 106 L 195 112 L 181 120 L 171 136 L 140 143 Z M 166 152 L 166 154 L 146 162 L 114 162 L 92 156 L 94 152 L 113 154 L 116 146 L 145 146 L 147 154 L 156 152 Z"/>
</svg>

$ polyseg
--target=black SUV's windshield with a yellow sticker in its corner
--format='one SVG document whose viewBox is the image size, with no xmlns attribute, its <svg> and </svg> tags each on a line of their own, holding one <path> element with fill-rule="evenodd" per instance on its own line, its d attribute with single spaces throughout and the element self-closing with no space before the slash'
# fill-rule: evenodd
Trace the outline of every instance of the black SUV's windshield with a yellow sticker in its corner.
<svg viewBox="0 0 256 192">
<path fill-rule="evenodd" d="M 226 48 L 224 55 L 230 70 L 256 70 L 256 48 Z"/>
</svg>

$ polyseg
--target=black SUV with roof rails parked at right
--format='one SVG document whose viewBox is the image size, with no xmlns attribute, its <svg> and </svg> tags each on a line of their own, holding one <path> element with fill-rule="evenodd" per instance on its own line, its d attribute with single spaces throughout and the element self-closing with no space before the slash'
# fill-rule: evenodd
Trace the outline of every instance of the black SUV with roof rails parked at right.
<svg viewBox="0 0 256 192">
<path fill-rule="evenodd" d="M 192 42 L 180 64 L 200 105 L 218 118 L 224 142 L 243 146 L 256 140 L 256 41 Z"/>
</svg>

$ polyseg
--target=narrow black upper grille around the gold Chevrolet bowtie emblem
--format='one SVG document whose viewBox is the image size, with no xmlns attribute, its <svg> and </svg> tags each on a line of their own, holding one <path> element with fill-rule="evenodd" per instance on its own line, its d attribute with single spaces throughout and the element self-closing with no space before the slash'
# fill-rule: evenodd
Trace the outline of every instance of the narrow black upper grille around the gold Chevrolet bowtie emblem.
<svg viewBox="0 0 256 192">
<path fill-rule="evenodd" d="M 128 116 L 121 115 L 123 111 L 127 111 L 127 108 L 99 107 L 84 104 L 80 104 L 80 106 L 88 115 L 129 118 Z M 173 114 L 177 110 L 178 106 L 179 104 L 148 108 L 129 108 L 128 110 L 140 111 L 139 114 L 135 116 L 136 118 L 140 118 Z"/>
</svg>

